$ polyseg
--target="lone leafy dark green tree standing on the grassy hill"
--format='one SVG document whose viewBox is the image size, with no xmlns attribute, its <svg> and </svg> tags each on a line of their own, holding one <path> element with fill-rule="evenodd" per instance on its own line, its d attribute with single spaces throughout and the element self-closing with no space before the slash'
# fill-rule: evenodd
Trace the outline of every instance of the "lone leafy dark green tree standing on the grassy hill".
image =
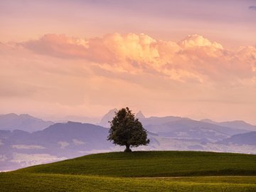
<svg viewBox="0 0 256 192">
<path fill-rule="evenodd" d="M 124 151 L 131 152 L 130 146 L 149 144 L 146 129 L 142 127 L 139 119 L 136 119 L 128 107 L 115 112 L 115 116 L 110 122 L 110 131 L 107 140 L 114 144 L 126 146 Z"/>
</svg>

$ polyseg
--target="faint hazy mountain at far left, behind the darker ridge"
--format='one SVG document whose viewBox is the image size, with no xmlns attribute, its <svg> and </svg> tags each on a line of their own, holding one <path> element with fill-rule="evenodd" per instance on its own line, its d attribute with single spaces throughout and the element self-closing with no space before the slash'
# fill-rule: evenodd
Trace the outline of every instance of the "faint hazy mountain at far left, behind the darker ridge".
<svg viewBox="0 0 256 192">
<path fill-rule="evenodd" d="M 1 114 L 0 115 L 0 129 L 14 130 L 21 129 L 26 132 L 36 132 L 49 127 L 54 122 L 44 121 L 29 114 Z"/>
</svg>

